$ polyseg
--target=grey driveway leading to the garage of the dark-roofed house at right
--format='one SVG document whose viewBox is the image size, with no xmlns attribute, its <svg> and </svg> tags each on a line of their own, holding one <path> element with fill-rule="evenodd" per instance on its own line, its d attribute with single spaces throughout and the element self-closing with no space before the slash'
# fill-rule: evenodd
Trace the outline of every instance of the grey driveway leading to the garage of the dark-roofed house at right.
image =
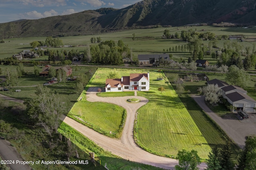
<svg viewBox="0 0 256 170">
<path fill-rule="evenodd" d="M 246 136 L 256 134 L 256 115 L 249 113 L 249 119 L 224 119 L 206 106 L 204 96 L 192 95 L 196 103 L 226 132 L 241 148 L 244 147 Z"/>
</svg>

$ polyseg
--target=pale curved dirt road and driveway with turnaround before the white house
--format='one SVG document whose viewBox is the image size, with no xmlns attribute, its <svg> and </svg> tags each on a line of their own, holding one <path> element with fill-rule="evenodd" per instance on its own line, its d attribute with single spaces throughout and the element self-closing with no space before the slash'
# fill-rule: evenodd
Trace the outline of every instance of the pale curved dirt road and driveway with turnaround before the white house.
<svg viewBox="0 0 256 170">
<path fill-rule="evenodd" d="M 101 98 L 96 96 L 97 89 L 98 88 L 88 89 L 88 91 L 86 92 L 86 99 L 88 101 L 108 102 L 116 104 L 124 107 L 127 111 L 126 123 L 124 125 L 121 140 L 101 135 L 96 131 L 78 123 L 77 121 L 69 117 L 63 117 L 63 121 L 71 127 L 73 127 L 74 129 L 76 129 L 77 131 L 79 131 L 80 133 L 82 133 L 83 135 L 85 135 L 86 137 L 88 137 L 88 139 L 94 141 L 94 143 L 96 143 L 103 149 L 112 152 L 112 154 L 120 156 L 126 160 L 173 170 L 174 166 L 178 164 L 177 160 L 150 154 L 145 150 L 142 150 L 134 142 L 133 125 L 136 110 L 141 106 L 145 105 L 148 102 L 148 99 L 141 96 L 136 96 L 136 98 L 140 99 L 139 103 L 128 103 L 126 102 L 126 100 L 131 98 L 130 96 Z M 206 164 L 202 163 L 198 167 L 200 168 L 200 170 L 203 170 L 206 167 Z"/>
</svg>

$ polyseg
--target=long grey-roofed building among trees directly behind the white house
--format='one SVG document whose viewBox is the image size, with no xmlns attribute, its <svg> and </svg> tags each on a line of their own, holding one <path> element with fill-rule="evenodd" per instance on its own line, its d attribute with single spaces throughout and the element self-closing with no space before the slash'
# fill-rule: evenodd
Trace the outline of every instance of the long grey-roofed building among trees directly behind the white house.
<svg viewBox="0 0 256 170">
<path fill-rule="evenodd" d="M 169 54 L 139 54 L 138 61 L 139 64 L 154 64 L 156 61 L 160 60 L 170 60 Z"/>
</svg>

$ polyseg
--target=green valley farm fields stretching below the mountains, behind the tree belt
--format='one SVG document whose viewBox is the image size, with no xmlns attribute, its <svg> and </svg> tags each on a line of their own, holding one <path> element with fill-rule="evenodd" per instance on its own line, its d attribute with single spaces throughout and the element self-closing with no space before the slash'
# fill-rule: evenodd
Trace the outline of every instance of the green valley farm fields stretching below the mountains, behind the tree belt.
<svg viewBox="0 0 256 170">
<path fill-rule="evenodd" d="M 62 48 L 46 48 L 54 50 L 65 49 L 67 51 L 71 49 L 78 49 L 80 53 L 84 52 L 86 48 L 85 45 L 94 45 L 90 42 L 91 37 L 101 37 L 102 41 L 114 40 L 117 44 L 118 40 L 122 40 L 125 45 L 128 45 L 132 49 L 132 54 L 134 59 L 137 58 L 138 54 L 149 54 L 149 53 L 170 53 L 173 55 L 174 61 L 180 61 L 180 58 L 187 61 L 191 54 L 188 52 L 177 52 L 177 51 L 167 51 L 172 47 L 178 45 L 186 45 L 185 41 L 177 39 L 163 39 L 162 35 L 164 29 L 169 29 L 171 34 L 181 33 L 182 30 L 188 31 L 189 29 L 195 30 L 197 33 L 203 33 L 209 31 L 215 33 L 215 35 L 244 35 L 247 38 L 255 37 L 255 27 L 244 29 L 242 27 L 213 27 L 213 26 L 186 26 L 186 27 L 159 27 L 150 29 L 132 29 L 126 31 L 119 31 L 114 33 L 102 33 L 98 35 L 81 35 L 81 36 L 69 36 L 60 37 L 64 45 L 73 45 L 74 47 L 62 47 Z M 135 40 L 132 41 L 132 34 L 135 34 Z M 45 41 L 46 37 L 30 37 L 30 38 L 12 38 L 4 39 L 6 43 L 0 44 L 0 59 L 11 57 L 13 54 L 19 53 L 20 51 L 31 49 L 30 43 L 33 41 Z M 230 40 L 218 40 L 217 46 L 219 48 L 223 47 L 223 43 Z M 235 40 L 231 40 L 235 41 Z M 253 42 L 240 42 L 245 51 L 246 46 L 252 48 Z M 204 45 L 208 46 L 209 41 L 203 41 Z M 97 43 L 95 43 L 96 45 Z M 218 49 L 216 49 L 218 50 Z M 213 60 L 211 56 L 205 56 L 204 59 L 210 61 L 210 64 L 216 64 L 217 61 Z M 29 59 L 28 59 L 29 60 Z M 38 59 L 32 59 L 38 61 L 47 61 L 48 56 L 40 57 Z"/>
</svg>

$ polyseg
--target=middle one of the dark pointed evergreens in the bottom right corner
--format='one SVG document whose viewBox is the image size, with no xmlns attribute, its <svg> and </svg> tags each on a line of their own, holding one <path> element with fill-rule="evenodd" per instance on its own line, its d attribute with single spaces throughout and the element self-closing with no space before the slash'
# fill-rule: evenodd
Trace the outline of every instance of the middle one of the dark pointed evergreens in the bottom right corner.
<svg viewBox="0 0 256 170">
<path fill-rule="evenodd" d="M 230 141 L 224 146 L 220 152 L 220 166 L 221 170 L 234 170 L 234 162 L 232 160 L 233 154 L 231 150 Z"/>
</svg>

